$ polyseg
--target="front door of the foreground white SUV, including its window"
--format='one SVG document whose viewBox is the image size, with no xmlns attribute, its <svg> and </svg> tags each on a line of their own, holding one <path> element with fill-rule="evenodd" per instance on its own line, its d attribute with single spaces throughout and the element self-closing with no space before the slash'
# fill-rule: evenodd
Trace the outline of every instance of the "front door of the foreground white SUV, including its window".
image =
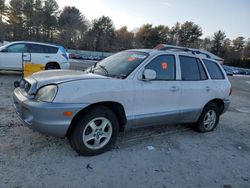
<svg viewBox="0 0 250 188">
<path fill-rule="evenodd" d="M 179 115 L 180 83 L 176 80 L 174 55 L 160 55 L 143 69 L 156 72 L 156 79 L 135 82 L 136 124 L 172 124 Z"/>
</svg>

